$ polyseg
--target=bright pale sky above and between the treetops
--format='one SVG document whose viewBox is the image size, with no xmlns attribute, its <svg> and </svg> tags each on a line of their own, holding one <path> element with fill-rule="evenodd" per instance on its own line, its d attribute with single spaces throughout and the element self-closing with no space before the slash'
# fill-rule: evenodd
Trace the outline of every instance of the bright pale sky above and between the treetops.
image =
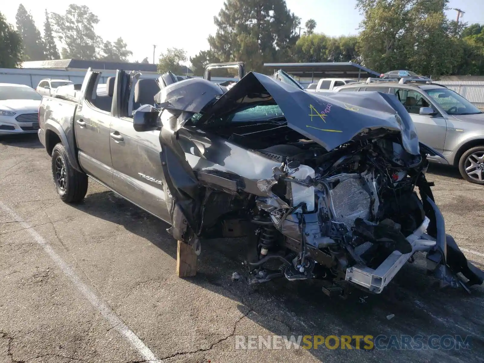
<svg viewBox="0 0 484 363">
<path fill-rule="evenodd" d="M 317 22 L 316 32 L 329 36 L 358 33 L 362 15 L 355 9 L 356 0 L 286 0 L 291 12 L 306 20 Z M 7 21 L 15 25 L 15 14 L 22 3 L 44 33 L 45 9 L 64 14 L 72 1 L 2 1 L 1 13 Z M 96 31 L 103 40 L 115 41 L 121 37 L 128 49 L 133 52 L 131 61 L 142 61 L 148 57 L 153 61 L 160 52 L 169 47 L 183 48 L 187 56 L 195 56 L 200 50 L 209 48 L 207 37 L 215 34 L 213 16 L 224 5 L 224 0 L 136 0 L 130 6 L 117 6 L 106 0 L 79 0 L 78 5 L 87 5 L 99 17 Z M 120 3 L 119 3 L 120 4 Z M 460 8 L 465 12 L 460 21 L 484 24 L 484 0 L 451 0 L 450 8 Z M 447 16 L 455 19 L 457 12 L 449 10 Z M 304 31 L 304 30 L 302 30 Z"/>
</svg>

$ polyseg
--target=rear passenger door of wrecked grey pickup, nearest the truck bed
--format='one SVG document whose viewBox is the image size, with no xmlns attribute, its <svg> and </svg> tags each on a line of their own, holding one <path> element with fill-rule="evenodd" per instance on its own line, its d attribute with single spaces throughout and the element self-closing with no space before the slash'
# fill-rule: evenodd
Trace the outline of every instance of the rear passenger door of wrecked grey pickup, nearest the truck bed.
<svg viewBox="0 0 484 363">
<path fill-rule="evenodd" d="M 114 77 L 108 78 L 105 94 L 97 94 L 101 73 L 88 70 L 74 116 L 79 164 L 87 174 L 109 187 L 113 185 L 109 127 Z M 110 87 L 109 87 L 110 86 Z"/>
</svg>

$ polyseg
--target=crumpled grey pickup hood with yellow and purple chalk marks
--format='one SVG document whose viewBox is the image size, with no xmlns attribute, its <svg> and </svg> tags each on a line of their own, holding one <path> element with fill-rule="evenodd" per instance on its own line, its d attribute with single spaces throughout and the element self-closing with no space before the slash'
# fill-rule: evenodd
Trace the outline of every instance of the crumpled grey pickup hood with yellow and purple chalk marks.
<svg viewBox="0 0 484 363">
<path fill-rule="evenodd" d="M 215 103 L 203 110 L 203 123 L 250 104 L 276 103 L 287 126 L 326 150 L 377 129 L 398 131 L 410 154 L 418 155 L 415 126 L 394 95 L 380 92 L 307 92 L 272 77 L 250 72 Z"/>
</svg>

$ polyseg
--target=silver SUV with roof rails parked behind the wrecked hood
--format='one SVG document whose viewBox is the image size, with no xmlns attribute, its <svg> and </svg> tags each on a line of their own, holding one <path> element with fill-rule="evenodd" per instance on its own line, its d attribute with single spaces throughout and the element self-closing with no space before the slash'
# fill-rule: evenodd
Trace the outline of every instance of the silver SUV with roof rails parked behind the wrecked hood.
<svg viewBox="0 0 484 363">
<path fill-rule="evenodd" d="M 484 184 L 484 112 L 458 93 L 429 80 L 403 78 L 368 78 L 335 91 L 394 94 L 410 114 L 419 139 L 458 167 L 465 180 Z M 442 163 L 438 156 L 428 159 Z"/>
</svg>

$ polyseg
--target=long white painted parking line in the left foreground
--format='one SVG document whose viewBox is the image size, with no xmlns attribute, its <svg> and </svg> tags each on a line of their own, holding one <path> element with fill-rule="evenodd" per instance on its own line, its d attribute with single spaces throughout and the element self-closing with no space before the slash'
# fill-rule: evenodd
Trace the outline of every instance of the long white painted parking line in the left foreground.
<svg viewBox="0 0 484 363">
<path fill-rule="evenodd" d="M 100 298 L 96 296 L 96 294 L 92 291 L 92 289 L 84 284 L 79 277 L 77 276 L 76 272 L 67 264 L 65 263 L 62 258 L 54 252 L 52 247 L 38 234 L 27 222 L 23 220 L 17 213 L 15 213 L 12 209 L 7 207 L 5 204 L 0 202 L 0 209 L 3 212 L 10 214 L 15 221 L 18 221 L 20 225 L 24 228 L 30 235 L 35 239 L 35 241 L 44 249 L 45 253 L 49 255 L 50 258 L 55 262 L 55 264 L 61 269 L 62 272 L 71 280 L 72 284 L 91 302 L 92 306 L 94 306 L 101 315 L 111 324 L 111 326 L 117 330 L 121 335 L 131 344 L 133 348 L 135 348 L 139 354 L 144 358 L 147 362 L 160 362 L 153 352 L 148 348 L 142 341 L 139 339 L 135 333 L 126 325 L 124 322 L 116 315 L 116 313 L 104 303 Z"/>
</svg>

